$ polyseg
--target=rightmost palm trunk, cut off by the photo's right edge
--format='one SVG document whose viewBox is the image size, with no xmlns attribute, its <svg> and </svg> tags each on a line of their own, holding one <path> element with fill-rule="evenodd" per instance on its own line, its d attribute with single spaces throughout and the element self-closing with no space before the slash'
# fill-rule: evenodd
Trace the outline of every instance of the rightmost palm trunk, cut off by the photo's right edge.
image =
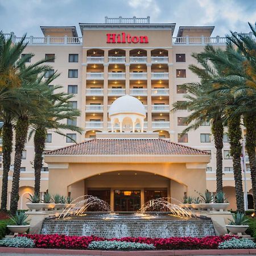
<svg viewBox="0 0 256 256">
<path fill-rule="evenodd" d="M 250 169 L 251 169 L 251 187 L 253 188 L 253 201 L 254 212 L 256 212 L 256 159 L 255 159 L 255 147 L 256 147 L 256 115 L 245 114 L 243 117 L 243 123 L 246 127 L 246 150 L 249 156 Z"/>
</svg>

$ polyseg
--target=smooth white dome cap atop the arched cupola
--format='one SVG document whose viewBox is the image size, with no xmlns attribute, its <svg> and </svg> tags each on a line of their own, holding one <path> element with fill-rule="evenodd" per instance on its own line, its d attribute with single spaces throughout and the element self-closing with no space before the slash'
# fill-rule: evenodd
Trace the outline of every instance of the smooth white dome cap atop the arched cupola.
<svg viewBox="0 0 256 256">
<path fill-rule="evenodd" d="M 117 98 L 109 108 L 109 117 L 114 114 L 139 114 L 146 117 L 146 110 L 141 101 L 130 95 Z"/>
</svg>

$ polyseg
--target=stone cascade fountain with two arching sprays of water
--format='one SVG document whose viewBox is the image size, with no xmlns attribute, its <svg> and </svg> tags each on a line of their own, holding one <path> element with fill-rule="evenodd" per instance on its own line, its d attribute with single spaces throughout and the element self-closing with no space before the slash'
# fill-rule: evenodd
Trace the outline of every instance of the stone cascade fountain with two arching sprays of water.
<svg viewBox="0 0 256 256">
<path fill-rule="evenodd" d="M 82 200 L 81 200 L 82 199 Z M 97 210 L 89 212 L 88 210 Z M 166 198 L 148 201 L 133 214 L 111 213 L 109 204 L 94 196 L 81 196 L 63 210 L 59 218 L 44 220 L 42 234 L 121 237 L 214 236 L 209 218 L 196 218 L 189 209 Z"/>
</svg>

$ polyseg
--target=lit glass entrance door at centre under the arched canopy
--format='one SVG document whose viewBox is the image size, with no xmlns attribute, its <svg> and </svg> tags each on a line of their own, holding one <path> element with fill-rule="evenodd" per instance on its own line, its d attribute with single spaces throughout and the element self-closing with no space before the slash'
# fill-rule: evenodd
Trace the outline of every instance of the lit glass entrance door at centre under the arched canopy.
<svg viewBox="0 0 256 256">
<path fill-rule="evenodd" d="M 115 212 L 135 212 L 141 208 L 141 191 L 114 191 L 114 211 Z"/>
</svg>

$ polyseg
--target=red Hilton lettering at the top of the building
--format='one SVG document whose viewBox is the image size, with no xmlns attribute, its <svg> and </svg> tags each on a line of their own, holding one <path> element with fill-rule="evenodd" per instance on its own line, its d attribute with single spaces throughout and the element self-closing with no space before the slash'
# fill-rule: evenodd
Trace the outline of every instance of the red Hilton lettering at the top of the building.
<svg viewBox="0 0 256 256">
<path fill-rule="evenodd" d="M 130 34 L 125 34 L 122 32 L 121 34 L 106 34 L 107 36 L 107 43 L 108 44 L 125 44 L 125 43 L 141 43 L 147 44 L 148 38 L 147 36 L 131 36 Z"/>
</svg>

